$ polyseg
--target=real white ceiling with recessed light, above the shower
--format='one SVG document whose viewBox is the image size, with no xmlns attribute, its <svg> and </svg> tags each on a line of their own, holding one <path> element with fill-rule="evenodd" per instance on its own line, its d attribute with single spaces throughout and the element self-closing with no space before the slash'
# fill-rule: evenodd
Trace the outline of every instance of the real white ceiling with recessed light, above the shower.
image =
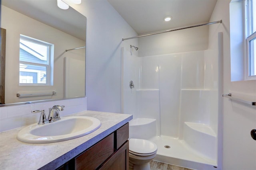
<svg viewBox="0 0 256 170">
<path fill-rule="evenodd" d="M 208 22 L 217 0 L 108 0 L 139 34 Z M 172 16 L 169 22 L 164 17 Z"/>
</svg>

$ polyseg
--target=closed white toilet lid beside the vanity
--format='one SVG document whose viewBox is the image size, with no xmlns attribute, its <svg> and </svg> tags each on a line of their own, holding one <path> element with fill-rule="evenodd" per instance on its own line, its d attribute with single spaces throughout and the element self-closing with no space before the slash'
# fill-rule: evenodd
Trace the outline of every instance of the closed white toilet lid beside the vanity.
<svg viewBox="0 0 256 170">
<path fill-rule="evenodd" d="M 157 146 L 155 143 L 145 139 L 130 139 L 129 150 L 134 154 L 152 154 L 156 152 Z"/>
</svg>

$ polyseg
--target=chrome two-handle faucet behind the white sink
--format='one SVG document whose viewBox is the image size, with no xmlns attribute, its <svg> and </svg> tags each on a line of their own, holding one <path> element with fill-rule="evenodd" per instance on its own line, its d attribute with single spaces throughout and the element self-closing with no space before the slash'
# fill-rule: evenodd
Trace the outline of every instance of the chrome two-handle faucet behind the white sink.
<svg viewBox="0 0 256 170">
<path fill-rule="evenodd" d="M 44 113 L 44 109 L 42 110 L 32 110 L 31 113 L 39 113 L 41 112 L 41 115 L 40 115 L 40 119 L 38 121 L 38 125 L 43 125 L 43 124 L 46 124 L 46 123 L 50 123 L 50 122 L 54 122 L 54 121 L 57 121 L 57 120 L 60 120 L 60 114 L 59 114 L 59 111 L 62 111 L 64 110 L 65 106 L 53 106 L 52 108 L 49 108 L 49 115 L 48 115 L 48 119 L 46 119 L 46 115 Z"/>
</svg>

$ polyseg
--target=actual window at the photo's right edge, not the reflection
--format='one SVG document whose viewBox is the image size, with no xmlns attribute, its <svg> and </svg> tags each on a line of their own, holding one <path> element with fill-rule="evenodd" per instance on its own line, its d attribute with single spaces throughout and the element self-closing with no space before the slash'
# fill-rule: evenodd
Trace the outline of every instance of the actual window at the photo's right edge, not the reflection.
<svg viewBox="0 0 256 170">
<path fill-rule="evenodd" d="M 256 79 L 256 0 L 245 2 L 247 76 Z"/>
</svg>

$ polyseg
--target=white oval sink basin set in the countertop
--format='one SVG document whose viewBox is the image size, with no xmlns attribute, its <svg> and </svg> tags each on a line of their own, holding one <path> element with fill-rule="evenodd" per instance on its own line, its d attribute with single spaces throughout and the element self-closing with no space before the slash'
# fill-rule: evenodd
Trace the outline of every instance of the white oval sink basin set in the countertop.
<svg viewBox="0 0 256 170">
<path fill-rule="evenodd" d="M 26 143 L 53 143 L 78 138 L 101 126 L 100 120 L 87 116 L 62 117 L 60 120 L 38 125 L 34 123 L 23 128 L 17 139 Z"/>
</svg>

